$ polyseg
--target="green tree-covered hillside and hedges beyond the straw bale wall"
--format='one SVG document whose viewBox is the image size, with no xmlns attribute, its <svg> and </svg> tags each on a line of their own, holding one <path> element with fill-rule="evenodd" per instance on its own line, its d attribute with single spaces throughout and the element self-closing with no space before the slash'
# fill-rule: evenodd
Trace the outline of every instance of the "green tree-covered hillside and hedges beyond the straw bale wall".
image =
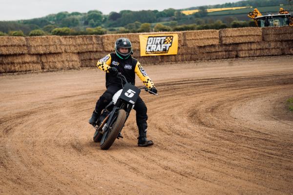
<svg viewBox="0 0 293 195">
<path fill-rule="evenodd" d="M 208 8 L 230 6 L 269 6 L 290 4 L 292 0 L 244 0 L 213 6 L 196 7 L 199 12 L 185 15 L 172 8 L 163 11 L 142 10 L 111 12 L 104 15 L 99 10 L 87 13 L 60 12 L 38 19 L 0 21 L 0 36 L 42 35 L 103 35 L 109 33 L 137 33 L 157 31 L 181 31 L 221 29 L 254 26 L 251 20 L 239 21 L 235 17 L 208 18 Z"/>
</svg>

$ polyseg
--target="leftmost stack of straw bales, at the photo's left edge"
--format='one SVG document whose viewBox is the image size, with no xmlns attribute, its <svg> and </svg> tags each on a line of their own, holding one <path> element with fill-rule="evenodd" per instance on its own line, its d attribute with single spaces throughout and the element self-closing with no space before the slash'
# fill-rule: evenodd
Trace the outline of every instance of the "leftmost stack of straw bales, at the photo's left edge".
<svg viewBox="0 0 293 195">
<path fill-rule="evenodd" d="M 41 70 L 38 55 L 27 55 L 23 37 L 0 37 L 0 73 Z"/>
</svg>

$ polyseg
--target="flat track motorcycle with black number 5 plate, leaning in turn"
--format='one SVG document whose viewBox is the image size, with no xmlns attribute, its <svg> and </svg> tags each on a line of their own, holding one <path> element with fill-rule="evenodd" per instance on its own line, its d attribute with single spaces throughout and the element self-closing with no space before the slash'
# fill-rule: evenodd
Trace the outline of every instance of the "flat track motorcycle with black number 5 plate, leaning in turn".
<svg viewBox="0 0 293 195">
<path fill-rule="evenodd" d="M 97 120 L 94 128 L 94 142 L 100 142 L 102 150 L 109 149 L 114 143 L 116 138 L 123 138 L 121 130 L 129 116 L 130 111 L 133 109 L 137 98 L 142 89 L 151 94 L 146 87 L 137 88 L 136 86 L 127 82 L 126 78 L 118 73 L 118 78 L 121 78 L 123 89 L 120 89 L 114 94 L 112 101 L 102 111 L 101 116 Z M 125 81 L 125 85 L 123 85 Z M 155 94 L 158 96 L 158 94 Z"/>
</svg>

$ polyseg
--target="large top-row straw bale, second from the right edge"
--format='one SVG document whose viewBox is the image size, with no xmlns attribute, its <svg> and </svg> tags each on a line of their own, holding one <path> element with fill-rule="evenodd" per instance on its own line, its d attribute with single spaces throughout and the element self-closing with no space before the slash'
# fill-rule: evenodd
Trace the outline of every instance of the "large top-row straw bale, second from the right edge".
<svg viewBox="0 0 293 195">
<path fill-rule="evenodd" d="M 219 36 L 222 44 L 262 41 L 261 28 L 255 27 L 221 29 Z"/>
</svg>

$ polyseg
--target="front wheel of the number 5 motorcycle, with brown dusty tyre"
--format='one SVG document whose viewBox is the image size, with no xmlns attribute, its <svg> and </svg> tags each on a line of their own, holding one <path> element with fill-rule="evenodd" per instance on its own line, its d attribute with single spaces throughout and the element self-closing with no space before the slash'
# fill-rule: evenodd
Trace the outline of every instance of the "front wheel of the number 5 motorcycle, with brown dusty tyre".
<svg viewBox="0 0 293 195">
<path fill-rule="evenodd" d="M 107 150 L 114 143 L 116 137 L 120 133 L 123 128 L 123 125 L 126 120 L 126 112 L 123 109 L 117 111 L 116 116 L 114 118 L 114 123 L 109 127 L 108 131 L 106 131 L 101 139 L 101 149 Z"/>
</svg>

